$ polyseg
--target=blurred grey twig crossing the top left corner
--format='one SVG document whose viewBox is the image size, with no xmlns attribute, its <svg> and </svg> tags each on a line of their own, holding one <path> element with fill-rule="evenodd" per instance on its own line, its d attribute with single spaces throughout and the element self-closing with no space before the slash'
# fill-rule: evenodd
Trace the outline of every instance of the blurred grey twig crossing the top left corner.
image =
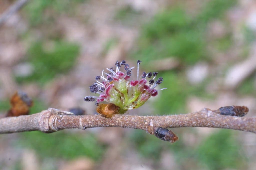
<svg viewBox="0 0 256 170">
<path fill-rule="evenodd" d="M 27 3 L 28 0 L 18 0 L 12 6 L 10 6 L 1 16 L 0 16 L 0 27 L 5 23 L 5 21 L 17 12 L 23 5 Z"/>
</svg>

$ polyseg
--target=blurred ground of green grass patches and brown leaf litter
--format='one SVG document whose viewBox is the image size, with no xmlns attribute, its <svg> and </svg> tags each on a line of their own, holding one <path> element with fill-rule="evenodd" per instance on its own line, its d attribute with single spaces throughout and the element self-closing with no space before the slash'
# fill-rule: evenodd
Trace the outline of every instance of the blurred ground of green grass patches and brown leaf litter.
<svg viewBox="0 0 256 170">
<path fill-rule="evenodd" d="M 0 1 L 0 18 L 14 0 Z M 89 86 L 126 60 L 164 78 L 158 96 L 130 115 L 169 115 L 245 105 L 256 111 L 254 0 L 34 0 L 0 26 L 0 114 L 17 90 L 48 107 L 95 114 Z M 171 144 L 142 130 L 66 129 L 0 135 L 0 169 L 233 170 L 256 167 L 256 135 L 174 128 Z"/>
</svg>

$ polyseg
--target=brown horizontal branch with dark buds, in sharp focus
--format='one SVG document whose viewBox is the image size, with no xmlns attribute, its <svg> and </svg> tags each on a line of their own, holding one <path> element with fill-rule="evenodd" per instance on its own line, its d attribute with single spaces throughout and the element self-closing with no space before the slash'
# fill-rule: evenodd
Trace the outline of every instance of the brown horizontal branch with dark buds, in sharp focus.
<svg viewBox="0 0 256 170">
<path fill-rule="evenodd" d="M 0 119 L 0 134 L 40 130 L 44 133 L 52 133 L 61 129 L 90 127 L 123 127 L 142 129 L 150 134 L 155 134 L 162 140 L 174 142 L 177 140 L 175 134 L 168 132 L 167 129 L 173 127 L 215 127 L 243 130 L 256 133 L 256 117 L 238 117 L 230 115 L 243 116 L 243 110 L 230 112 L 228 109 L 233 107 L 224 107 L 216 111 L 203 109 L 199 112 L 169 115 L 169 116 L 135 116 L 116 114 L 112 118 L 106 118 L 101 115 L 82 115 L 74 116 L 70 112 L 63 112 L 57 109 L 49 108 L 40 113 L 32 115 L 22 115 L 18 117 L 5 117 Z M 234 107 L 246 108 L 247 107 Z M 233 109 L 235 110 L 235 109 Z M 221 112 L 220 112 L 221 111 Z M 226 114 L 226 115 L 221 115 Z M 167 131 L 166 131 L 167 130 Z M 162 134 L 164 136 L 161 136 Z"/>
</svg>

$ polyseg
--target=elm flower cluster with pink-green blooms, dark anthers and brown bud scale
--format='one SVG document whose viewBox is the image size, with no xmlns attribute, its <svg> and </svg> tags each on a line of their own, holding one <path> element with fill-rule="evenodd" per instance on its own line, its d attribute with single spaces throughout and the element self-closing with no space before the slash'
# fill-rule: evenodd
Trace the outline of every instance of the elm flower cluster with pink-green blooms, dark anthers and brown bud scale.
<svg viewBox="0 0 256 170">
<path fill-rule="evenodd" d="M 157 72 L 143 72 L 139 75 L 140 63 L 138 60 L 136 79 L 132 79 L 135 67 L 130 67 L 124 60 L 116 61 L 116 71 L 113 67 L 107 68 L 109 73 L 102 70 L 102 75 L 95 76 L 96 82 L 90 86 L 90 91 L 99 96 L 86 96 L 84 101 L 95 101 L 98 106 L 97 112 L 106 117 L 124 114 L 127 110 L 142 106 L 151 96 L 158 94 L 155 88 L 162 83 L 163 78 L 159 77 L 156 80 Z M 122 65 L 124 72 L 120 71 Z M 163 89 L 166 88 L 160 90 Z"/>
</svg>

